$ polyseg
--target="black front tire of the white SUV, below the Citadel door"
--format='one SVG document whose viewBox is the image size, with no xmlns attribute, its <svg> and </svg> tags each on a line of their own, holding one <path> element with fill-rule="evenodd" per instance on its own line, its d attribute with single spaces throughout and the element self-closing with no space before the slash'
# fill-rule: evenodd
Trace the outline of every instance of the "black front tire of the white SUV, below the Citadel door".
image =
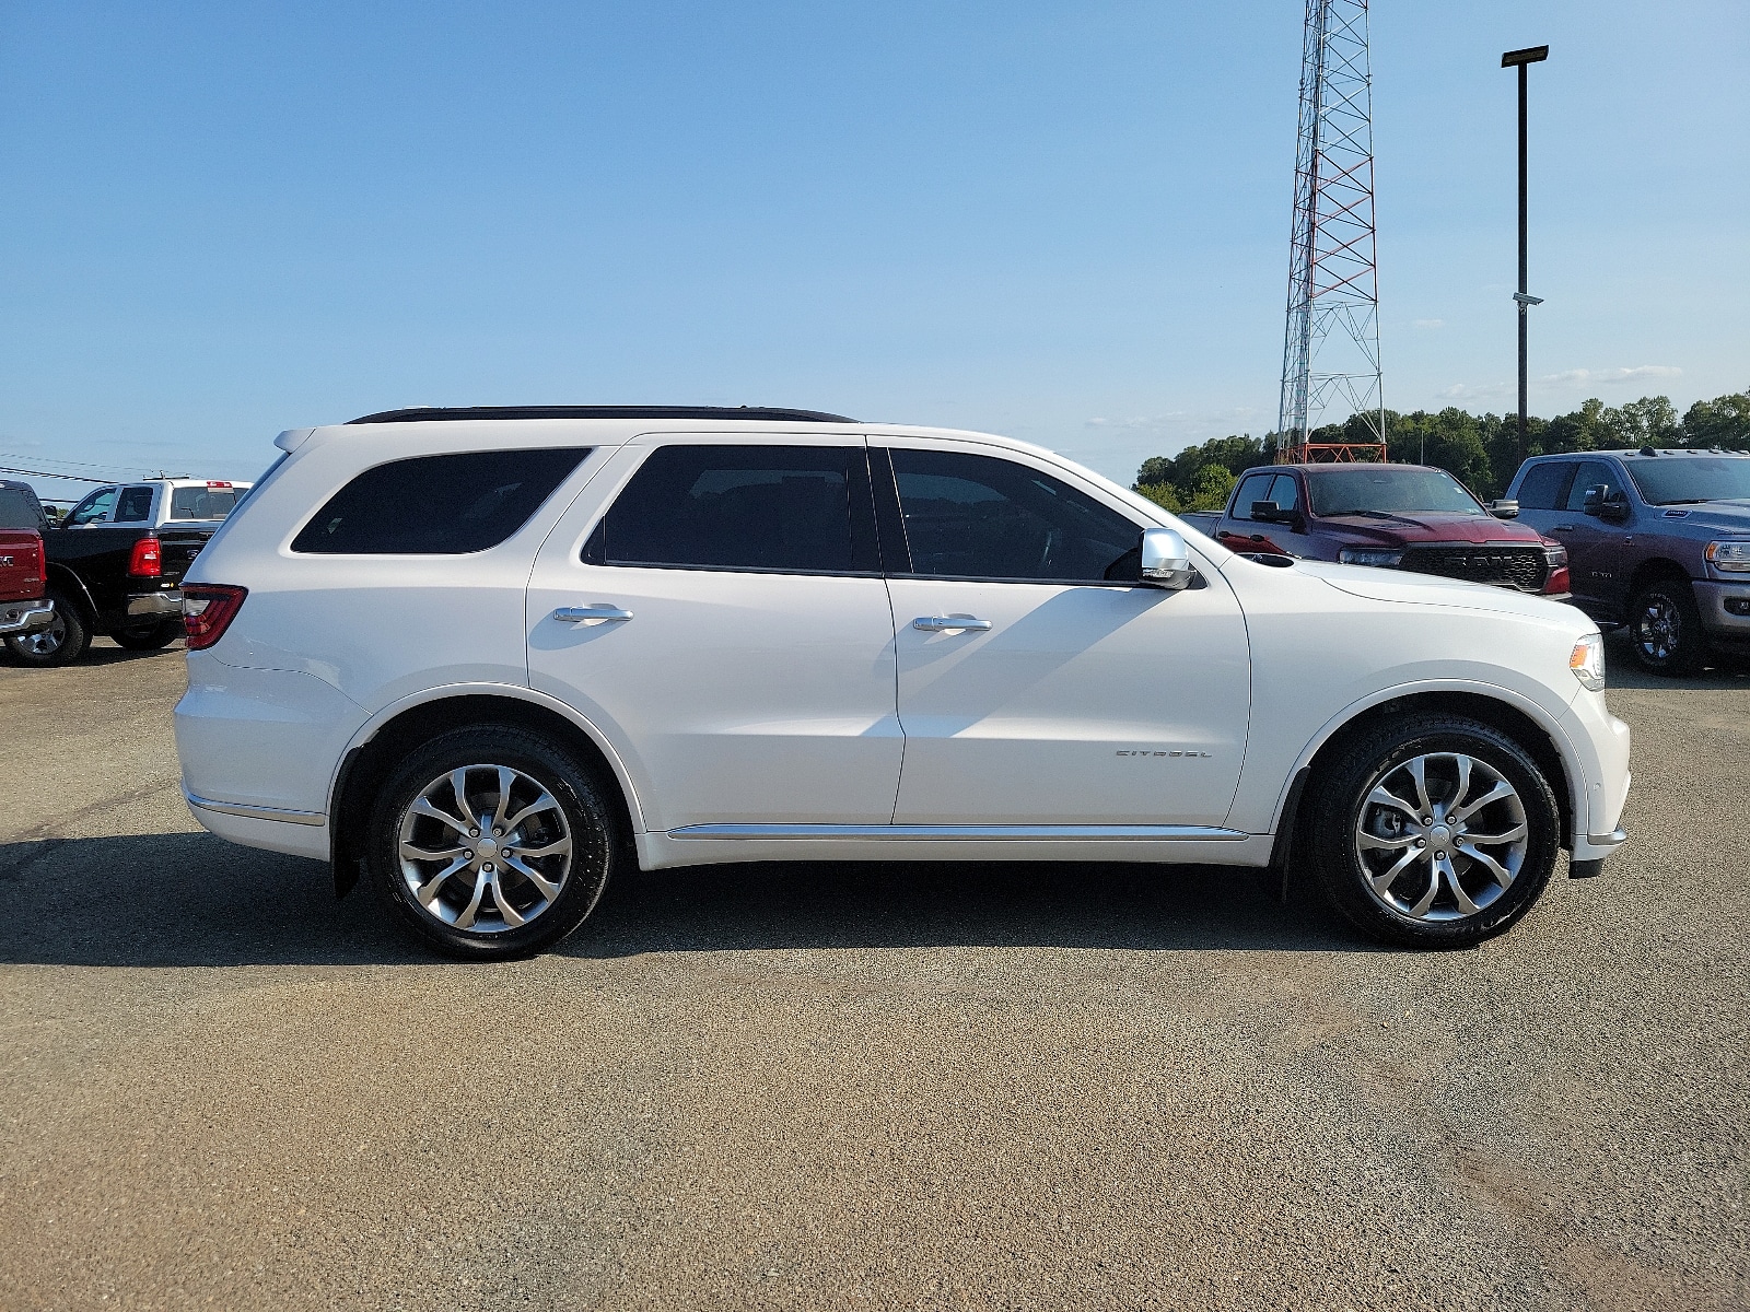
<svg viewBox="0 0 1750 1312">
<path fill-rule="evenodd" d="M 1468 757 L 1470 764 L 1460 766 L 1460 757 Z M 1423 761 L 1423 796 L 1432 799 L 1432 813 L 1400 819 L 1393 831 L 1393 817 L 1400 812 L 1372 798 L 1382 785 L 1386 792 L 1396 792 L 1405 782 L 1412 784 L 1410 771 L 1418 759 Z M 1468 785 L 1463 796 L 1454 798 L 1461 768 Z M 1491 777 L 1496 784 L 1489 784 Z M 1463 810 L 1456 803 L 1475 803 L 1500 782 L 1512 787 L 1512 799 L 1488 803 L 1452 826 L 1419 826 L 1423 819 L 1442 820 L 1447 808 Z M 1561 808 L 1531 756 L 1500 729 L 1460 715 L 1407 715 L 1365 731 L 1320 770 L 1309 801 L 1314 815 L 1311 855 L 1325 897 L 1356 929 L 1398 946 L 1468 948 L 1505 932 L 1544 892 L 1561 848 Z M 1484 834 L 1510 833 L 1516 827 L 1514 808 L 1522 813 L 1526 829 L 1522 848 L 1475 841 Z M 1367 841 L 1374 843 L 1377 836 L 1379 848 L 1391 850 L 1363 855 L 1363 822 Z M 1472 826 L 1470 840 L 1463 836 L 1466 824 Z M 1428 838 L 1418 843 L 1419 833 Z M 1482 861 L 1461 850 L 1465 841 L 1508 869 L 1505 887 Z M 1390 873 L 1400 852 L 1410 854 L 1410 864 L 1384 885 L 1384 892 L 1376 894 L 1376 880 Z M 1435 861 L 1437 852 L 1447 862 L 1444 868 Z M 1510 869 L 1516 861 L 1517 868 Z M 1404 906 L 1410 897 L 1421 904 L 1428 889 L 1437 892 L 1421 915 L 1416 915 L 1416 906 Z M 1466 901 L 1474 899 L 1474 910 L 1465 910 L 1460 892 Z"/>
</svg>

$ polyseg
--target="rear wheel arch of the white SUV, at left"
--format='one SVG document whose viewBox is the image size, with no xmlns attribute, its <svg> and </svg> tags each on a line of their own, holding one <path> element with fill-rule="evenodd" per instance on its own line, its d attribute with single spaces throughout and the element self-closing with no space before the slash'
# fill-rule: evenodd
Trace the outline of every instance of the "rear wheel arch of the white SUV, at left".
<svg viewBox="0 0 1750 1312">
<path fill-rule="evenodd" d="M 458 684 L 404 698 L 380 710 L 348 743 L 329 784 L 329 859 L 334 896 L 359 882 L 364 824 L 394 763 L 438 733 L 471 724 L 513 724 L 572 749 L 616 806 L 626 836 L 644 831 L 637 789 L 625 761 L 590 721 L 555 698 L 511 684 Z"/>
</svg>

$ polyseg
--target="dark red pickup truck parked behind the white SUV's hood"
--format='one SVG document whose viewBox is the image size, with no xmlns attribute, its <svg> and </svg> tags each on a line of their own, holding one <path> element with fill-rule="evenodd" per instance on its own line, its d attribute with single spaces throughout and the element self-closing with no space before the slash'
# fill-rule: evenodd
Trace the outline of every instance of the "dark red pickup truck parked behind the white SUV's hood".
<svg viewBox="0 0 1750 1312">
<path fill-rule="evenodd" d="M 1442 574 L 1568 598 L 1568 551 L 1517 502 L 1484 506 L 1432 465 L 1265 465 L 1241 474 L 1220 514 L 1186 523 L 1230 551 Z"/>
</svg>

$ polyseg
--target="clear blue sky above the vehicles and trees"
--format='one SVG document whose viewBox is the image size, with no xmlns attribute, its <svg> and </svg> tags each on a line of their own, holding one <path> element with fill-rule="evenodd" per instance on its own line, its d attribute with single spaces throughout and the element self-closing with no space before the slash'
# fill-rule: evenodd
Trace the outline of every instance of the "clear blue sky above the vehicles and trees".
<svg viewBox="0 0 1750 1312">
<path fill-rule="evenodd" d="M 0 5 L 0 464 L 404 404 L 789 404 L 1129 481 L 1274 427 L 1304 7 Z M 1750 7 L 1372 14 L 1395 409 L 1750 385 Z M 47 485 L 44 485 L 47 490 Z M 58 485 L 65 495 L 68 485 Z"/>
</svg>

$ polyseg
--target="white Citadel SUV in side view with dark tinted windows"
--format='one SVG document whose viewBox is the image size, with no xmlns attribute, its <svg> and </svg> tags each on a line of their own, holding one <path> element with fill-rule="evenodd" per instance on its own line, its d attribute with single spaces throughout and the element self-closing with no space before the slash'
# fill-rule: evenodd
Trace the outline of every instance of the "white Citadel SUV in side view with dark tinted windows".
<svg viewBox="0 0 1750 1312">
<path fill-rule="evenodd" d="M 530 408 L 278 446 L 184 588 L 184 791 L 455 953 L 555 943 L 626 861 L 1290 852 L 1465 945 L 1624 838 L 1578 611 L 1234 555 L 1003 437 Z"/>
</svg>

